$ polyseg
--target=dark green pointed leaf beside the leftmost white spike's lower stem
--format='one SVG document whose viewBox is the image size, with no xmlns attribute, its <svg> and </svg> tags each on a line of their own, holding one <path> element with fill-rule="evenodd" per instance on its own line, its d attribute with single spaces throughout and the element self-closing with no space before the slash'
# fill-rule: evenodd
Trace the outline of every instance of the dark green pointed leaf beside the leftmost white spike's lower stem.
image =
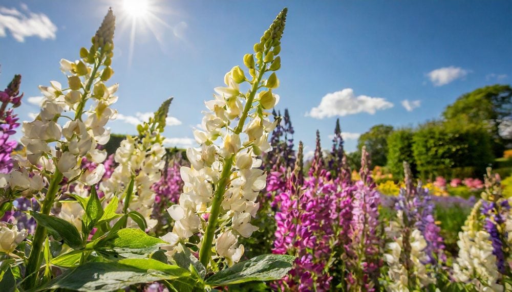
<svg viewBox="0 0 512 292">
<path fill-rule="evenodd" d="M 62 238 L 70 248 L 78 250 L 83 247 L 80 233 L 70 222 L 55 216 L 49 216 L 34 211 L 31 211 L 30 214 L 37 221 L 37 224 L 41 224 L 46 227 L 53 236 Z"/>
</svg>

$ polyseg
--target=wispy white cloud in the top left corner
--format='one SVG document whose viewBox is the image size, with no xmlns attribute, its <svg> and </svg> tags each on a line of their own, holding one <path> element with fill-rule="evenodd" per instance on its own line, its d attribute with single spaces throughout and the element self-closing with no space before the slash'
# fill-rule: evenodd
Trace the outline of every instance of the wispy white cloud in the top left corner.
<svg viewBox="0 0 512 292">
<path fill-rule="evenodd" d="M 5 37 L 8 30 L 19 42 L 31 36 L 55 39 L 57 27 L 46 14 L 30 12 L 26 5 L 22 5 L 22 9 L 24 11 L 0 6 L 0 37 Z"/>
</svg>

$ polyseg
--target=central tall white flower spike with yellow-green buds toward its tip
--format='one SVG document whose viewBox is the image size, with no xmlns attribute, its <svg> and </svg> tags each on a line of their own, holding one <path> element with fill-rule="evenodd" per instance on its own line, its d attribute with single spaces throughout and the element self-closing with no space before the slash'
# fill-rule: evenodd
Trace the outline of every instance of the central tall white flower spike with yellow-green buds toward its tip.
<svg viewBox="0 0 512 292">
<path fill-rule="evenodd" d="M 254 54 L 244 56 L 252 80 L 235 66 L 224 77 L 226 86 L 216 87 L 214 99 L 205 102 L 202 129 L 194 129 L 200 147 L 187 149 L 191 166 L 181 168 L 183 193 L 179 204 L 168 209 L 175 224 L 163 238 L 176 244 L 200 233 L 199 259 L 206 267 L 222 260 L 228 265 L 238 262 L 244 253 L 238 237 L 250 237 L 257 229 L 250 220 L 259 208 L 255 200 L 265 187 L 266 174 L 256 156 L 270 150 L 268 135 L 276 125 L 267 110 L 279 99 L 272 93 L 279 86 L 272 71 L 281 66 L 278 54 L 286 12 L 285 8 L 254 45 Z M 267 72 L 272 73 L 264 80 Z M 242 83 L 250 87 L 245 94 Z M 262 87 L 265 90 L 259 91 Z"/>
</svg>

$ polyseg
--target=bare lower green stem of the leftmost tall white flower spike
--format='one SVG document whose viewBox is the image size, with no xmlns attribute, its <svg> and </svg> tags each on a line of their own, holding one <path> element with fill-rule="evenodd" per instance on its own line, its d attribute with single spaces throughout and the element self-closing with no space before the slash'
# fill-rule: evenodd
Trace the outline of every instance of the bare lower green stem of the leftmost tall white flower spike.
<svg viewBox="0 0 512 292">
<path fill-rule="evenodd" d="M 62 181 L 62 173 L 58 169 L 55 169 L 52 181 L 48 186 L 48 192 L 46 193 L 45 200 L 42 201 L 41 214 L 48 215 L 52 209 L 57 191 L 59 190 L 59 184 Z M 37 270 L 41 265 L 41 249 L 42 243 L 45 241 L 47 232 L 46 228 L 41 224 L 37 224 L 34 234 L 34 240 L 32 241 L 32 250 L 27 261 L 27 271 L 25 275 L 28 275 L 27 281 L 25 282 L 25 288 L 30 289 L 35 286 L 37 281 Z"/>
</svg>

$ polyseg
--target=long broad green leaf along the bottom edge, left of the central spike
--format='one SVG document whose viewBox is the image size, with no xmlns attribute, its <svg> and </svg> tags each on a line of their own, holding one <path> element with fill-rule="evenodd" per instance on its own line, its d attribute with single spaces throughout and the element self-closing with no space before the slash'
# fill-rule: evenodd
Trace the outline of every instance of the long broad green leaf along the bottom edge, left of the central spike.
<svg viewBox="0 0 512 292">
<path fill-rule="evenodd" d="M 125 259 L 118 262 L 89 262 L 78 266 L 47 285 L 36 289 L 70 289 L 77 291 L 113 291 L 129 285 L 160 280 L 186 283 L 190 273 L 179 266 L 153 259 Z M 193 287 L 190 287 L 190 290 Z"/>
</svg>

